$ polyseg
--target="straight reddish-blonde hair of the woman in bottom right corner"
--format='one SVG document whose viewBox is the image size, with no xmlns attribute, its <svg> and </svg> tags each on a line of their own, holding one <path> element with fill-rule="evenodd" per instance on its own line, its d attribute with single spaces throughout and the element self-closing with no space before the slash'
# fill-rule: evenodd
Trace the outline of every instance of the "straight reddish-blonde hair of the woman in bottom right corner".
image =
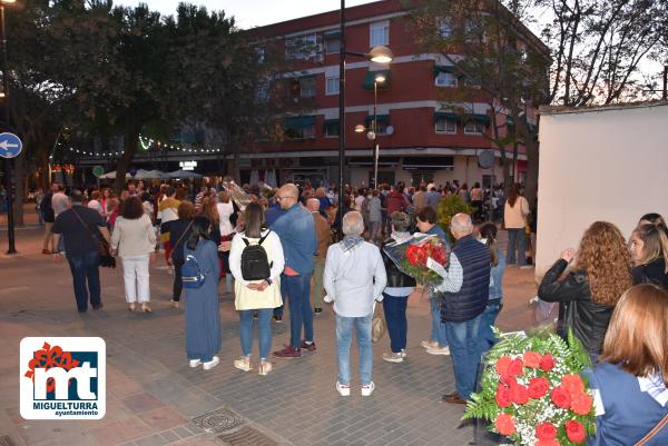
<svg viewBox="0 0 668 446">
<path fill-rule="evenodd" d="M 601 360 L 635 376 L 661 374 L 668 385 L 668 293 L 636 285 L 619 299 L 603 340 Z"/>
</svg>

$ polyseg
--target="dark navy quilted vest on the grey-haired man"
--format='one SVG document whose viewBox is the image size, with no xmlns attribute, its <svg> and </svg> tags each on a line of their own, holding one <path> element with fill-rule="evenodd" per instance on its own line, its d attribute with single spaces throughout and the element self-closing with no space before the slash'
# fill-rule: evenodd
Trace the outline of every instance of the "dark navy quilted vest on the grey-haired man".
<svg viewBox="0 0 668 446">
<path fill-rule="evenodd" d="M 490 296 L 491 256 L 487 246 L 473 238 L 462 237 L 455 241 L 452 252 L 464 270 L 459 293 L 444 293 L 441 301 L 441 320 L 463 323 L 479 316 Z"/>
</svg>

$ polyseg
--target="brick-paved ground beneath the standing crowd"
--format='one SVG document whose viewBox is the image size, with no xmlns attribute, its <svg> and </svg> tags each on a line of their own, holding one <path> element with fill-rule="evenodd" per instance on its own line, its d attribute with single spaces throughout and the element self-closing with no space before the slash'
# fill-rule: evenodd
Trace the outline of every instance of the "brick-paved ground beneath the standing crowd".
<svg viewBox="0 0 668 446">
<path fill-rule="evenodd" d="M 429 301 L 409 300 L 407 359 L 382 360 L 385 336 L 374 345 L 376 390 L 360 396 L 357 355 L 353 349 L 353 392 L 334 389 L 336 347 L 332 307 L 315 316 L 317 351 L 301 359 L 274 359 L 266 377 L 243 373 L 232 361 L 239 355 L 238 318 L 230 297 L 220 299 L 220 365 L 190 369 L 184 350 L 184 310 L 168 306 L 173 276 L 160 259 L 151 267 L 154 313 L 126 310 L 122 271 L 101 269 L 104 309 L 76 311 L 67 264 L 41 255 L 41 231 L 17 232 L 17 256 L 0 257 L 0 444 L 14 445 L 433 445 L 463 446 L 473 428 L 460 425 L 463 408 L 441 404 L 454 389 L 449 356 L 431 356 L 420 347 L 430 330 Z M 0 251 L 7 240 L 0 239 Z M 223 285 L 224 286 L 224 285 Z M 223 287 L 222 286 L 222 287 Z M 223 289 L 223 288 L 222 288 Z M 532 270 L 508 270 L 504 330 L 528 327 L 527 300 L 536 293 Z M 289 326 L 273 325 L 273 347 L 289 338 Z M 100 336 L 107 343 L 107 415 L 97 422 L 36 422 L 19 415 L 17 365 L 24 336 Z M 256 351 L 256 344 L 254 345 Z M 257 359 L 255 354 L 254 359 Z M 218 410 L 214 413 L 215 410 Z"/>
</svg>

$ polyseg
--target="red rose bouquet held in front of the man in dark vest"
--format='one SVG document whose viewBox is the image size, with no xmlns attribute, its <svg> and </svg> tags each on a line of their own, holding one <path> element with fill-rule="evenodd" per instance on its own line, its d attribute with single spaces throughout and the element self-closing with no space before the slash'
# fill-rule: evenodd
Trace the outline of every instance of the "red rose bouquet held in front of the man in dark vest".
<svg viewBox="0 0 668 446">
<path fill-rule="evenodd" d="M 438 236 L 416 232 L 387 244 L 383 249 L 403 274 L 419 284 L 431 285 L 443 280 L 449 252 Z"/>
</svg>

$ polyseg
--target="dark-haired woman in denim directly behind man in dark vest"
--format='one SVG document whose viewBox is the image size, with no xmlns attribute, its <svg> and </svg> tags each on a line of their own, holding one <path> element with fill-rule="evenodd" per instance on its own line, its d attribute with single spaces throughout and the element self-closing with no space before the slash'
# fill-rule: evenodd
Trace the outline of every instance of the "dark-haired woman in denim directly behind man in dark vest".
<svg viewBox="0 0 668 446">
<path fill-rule="evenodd" d="M 499 341 L 492 331 L 492 326 L 497 321 L 501 308 L 503 308 L 503 274 L 505 272 L 505 257 L 497 242 L 497 225 L 487 222 L 479 229 L 480 241 L 490 249 L 490 262 L 492 269 L 490 272 L 490 297 L 488 306 L 482 313 L 480 319 L 480 350 L 487 351 Z"/>
</svg>

